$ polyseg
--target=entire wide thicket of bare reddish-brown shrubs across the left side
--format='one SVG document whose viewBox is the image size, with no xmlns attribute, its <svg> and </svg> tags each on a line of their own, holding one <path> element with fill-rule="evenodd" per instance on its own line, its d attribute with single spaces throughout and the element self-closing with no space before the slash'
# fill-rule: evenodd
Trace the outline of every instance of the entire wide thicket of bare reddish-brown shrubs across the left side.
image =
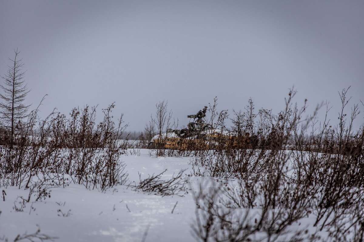
<svg viewBox="0 0 364 242">
<path fill-rule="evenodd" d="M 118 138 L 126 125 L 121 116 L 115 126 L 112 108 L 114 104 L 103 110 L 104 119 L 98 125 L 95 108 L 90 112 L 88 106 L 82 111 L 74 108 L 70 119 L 52 112 L 40 120 L 38 109 L 32 111 L 26 128 L 14 136 L 16 145 L 0 147 L 4 161 L 0 164 L 0 185 L 28 188 L 33 176 L 53 173 L 58 174 L 62 186 L 67 185 L 64 174 L 89 189 L 125 184 L 125 164 L 119 158 L 126 144 Z"/>
</svg>

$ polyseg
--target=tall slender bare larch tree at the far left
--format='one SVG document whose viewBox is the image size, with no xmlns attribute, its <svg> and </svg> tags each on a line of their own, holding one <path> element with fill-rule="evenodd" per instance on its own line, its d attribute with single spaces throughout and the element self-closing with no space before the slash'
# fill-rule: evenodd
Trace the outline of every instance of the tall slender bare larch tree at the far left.
<svg viewBox="0 0 364 242">
<path fill-rule="evenodd" d="M 4 79 L 3 93 L 0 93 L 2 102 L 0 103 L 0 117 L 4 128 L 11 128 L 11 146 L 13 145 L 15 127 L 20 127 L 21 120 L 28 115 L 30 105 L 25 105 L 25 96 L 29 93 L 26 83 L 24 83 L 23 71 L 24 63 L 22 59 L 18 60 L 19 51 L 14 50 L 15 58 L 10 59 L 11 65 L 8 65 L 7 73 L 1 78 Z M 19 126 L 18 126 L 19 124 Z"/>
</svg>

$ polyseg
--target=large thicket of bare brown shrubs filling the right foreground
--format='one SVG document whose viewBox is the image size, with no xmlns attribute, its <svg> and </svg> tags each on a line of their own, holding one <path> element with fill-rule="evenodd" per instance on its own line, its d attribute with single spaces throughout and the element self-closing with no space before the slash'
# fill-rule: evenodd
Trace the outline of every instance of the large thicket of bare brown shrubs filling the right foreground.
<svg viewBox="0 0 364 242">
<path fill-rule="evenodd" d="M 358 105 L 346 118 L 347 90 L 339 93 L 339 124 L 333 128 L 326 119 L 317 127 L 322 104 L 304 117 L 306 101 L 301 108 L 293 104 L 293 90 L 278 115 L 263 109 L 253 114 L 251 100 L 246 112 L 234 112 L 231 132 L 237 138 L 229 140 L 232 148 L 196 153 L 191 160 L 195 176 L 229 179 L 210 185 L 213 192 L 203 189 L 206 184 L 197 191 L 195 237 L 200 241 L 319 240 L 319 235 L 305 229 L 290 229 L 311 217 L 314 223 L 307 226 L 327 233 L 325 241 L 362 241 L 364 129 L 352 130 Z"/>
</svg>

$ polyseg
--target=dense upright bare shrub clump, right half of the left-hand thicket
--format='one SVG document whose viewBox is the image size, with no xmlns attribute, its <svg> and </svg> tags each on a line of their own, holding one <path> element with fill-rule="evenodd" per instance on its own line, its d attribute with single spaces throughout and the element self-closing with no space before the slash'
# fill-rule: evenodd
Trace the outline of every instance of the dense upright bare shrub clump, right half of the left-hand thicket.
<svg viewBox="0 0 364 242">
<path fill-rule="evenodd" d="M 104 190 L 127 181 L 125 164 L 119 160 L 126 150 L 126 144 L 120 143 L 119 137 L 127 125 L 123 125 L 121 115 L 115 126 L 111 115 L 114 106 L 112 103 L 103 109 L 104 119 L 96 127 L 95 108 L 90 113 L 88 107 L 82 115 L 74 109 L 65 126 L 65 135 L 72 134 L 67 138 L 73 142 L 73 145 L 65 145 L 68 153 L 66 172 L 74 175 L 75 182 L 89 189 L 98 188 L 99 184 Z"/>
</svg>

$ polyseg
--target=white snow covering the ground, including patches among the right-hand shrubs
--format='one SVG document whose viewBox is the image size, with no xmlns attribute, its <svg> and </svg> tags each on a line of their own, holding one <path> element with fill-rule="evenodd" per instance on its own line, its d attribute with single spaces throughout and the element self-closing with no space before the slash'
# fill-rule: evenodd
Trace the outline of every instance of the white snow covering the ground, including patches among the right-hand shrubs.
<svg viewBox="0 0 364 242">
<path fill-rule="evenodd" d="M 203 197 L 206 195 L 207 198 L 216 199 L 215 205 L 218 205 L 223 202 L 220 196 L 222 190 L 232 191 L 230 196 L 235 192 L 237 192 L 237 196 L 240 196 L 238 180 L 191 176 L 193 157 L 156 157 L 151 152 L 149 149 L 128 149 L 127 155 L 120 157 L 126 165 L 127 185 L 114 186 L 106 191 L 90 190 L 84 185 L 69 182 L 69 185 L 64 188 L 63 186 L 50 188 L 48 190 L 50 197 L 47 196 L 41 201 L 35 201 L 36 196 L 32 196 L 30 201 L 25 202 L 21 207 L 23 199 L 20 197 L 27 198 L 29 189 L 0 187 L 0 241 L 36 242 L 51 241 L 50 239 L 61 242 L 201 241 L 201 238 L 195 237 L 193 228 L 198 227 L 197 217 L 202 220 L 206 218 L 203 217 L 206 215 L 206 210 L 203 212 L 203 208 L 209 206 L 210 200 L 203 200 L 205 199 Z M 286 174 L 289 175 L 291 168 L 287 167 L 287 169 Z M 166 172 L 161 177 L 162 180 L 171 179 L 179 171 L 185 170 L 183 178 L 187 180 L 187 185 L 186 189 L 178 194 L 179 196 L 162 196 L 142 192 L 135 188 L 140 181 L 139 175 L 141 179 L 146 179 L 149 175 L 157 175 L 165 170 Z M 202 192 L 200 193 L 200 191 Z M 289 197 L 289 191 L 285 192 L 287 194 L 281 193 L 280 196 Z M 200 197 L 196 198 L 194 195 Z M 198 206 L 201 209 L 197 209 Z M 213 212 L 220 214 L 226 211 L 226 208 L 224 210 L 220 207 Z M 280 209 L 290 211 L 288 207 L 280 207 Z M 279 214 L 280 210 L 276 210 Z M 231 229 L 236 229 L 235 222 L 243 221 L 240 225 L 254 225 L 256 223 L 254 220 L 257 221 L 256 218 L 260 216 L 260 211 L 259 207 L 250 210 L 237 208 L 236 213 L 228 214 L 227 216 L 231 215 L 231 217 L 226 218 L 228 221 L 232 221 Z M 272 213 L 274 212 L 272 210 Z M 277 221 L 283 221 L 284 216 L 286 216 L 285 212 Z M 297 241 L 329 241 L 325 238 L 328 237 L 330 228 L 325 227 L 324 230 L 318 231 L 318 227 L 313 226 L 315 216 L 314 213 L 308 213 L 307 216 L 289 223 L 286 229 L 280 233 L 280 237 L 276 239 L 290 241 L 289 239 L 296 234 Z M 344 228 L 345 223 L 350 223 L 350 219 L 350 216 L 346 216 L 345 221 L 340 222 L 339 226 Z M 206 221 L 200 221 L 200 228 L 205 226 Z M 218 222 L 214 224 L 214 229 L 218 233 L 221 232 L 219 226 Z M 38 228 L 40 228 L 40 232 L 37 232 Z M 238 227 L 234 233 L 238 234 L 243 231 L 239 228 L 241 227 Z M 202 231 L 202 235 L 203 233 Z M 37 238 L 32 235 L 36 235 Z M 313 238 L 312 236 L 316 235 L 320 235 L 321 238 L 310 240 Z M 27 236 L 33 240 L 27 240 Z M 227 237 L 225 236 L 225 238 Z M 350 238 L 348 241 L 352 241 L 351 235 L 347 238 Z M 265 232 L 262 231 L 252 233 L 249 239 L 269 241 Z M 213 241 L 213 238 L 211 237 L 209 241 Z"/>
</svg>

